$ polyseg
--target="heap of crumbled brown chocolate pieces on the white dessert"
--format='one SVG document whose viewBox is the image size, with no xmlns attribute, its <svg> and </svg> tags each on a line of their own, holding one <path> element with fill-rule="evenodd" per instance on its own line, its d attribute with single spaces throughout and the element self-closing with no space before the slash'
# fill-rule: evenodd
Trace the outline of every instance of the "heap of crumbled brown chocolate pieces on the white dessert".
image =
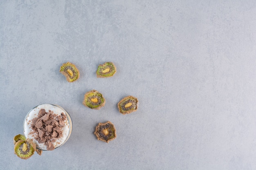
<svg viewBox="0 0 256 170">
<path fill-rule="evenodd" d="M 67 116 L 64 113 L 56 115 L 52 110 L 45 112 L 45 109 L 39 110 L 38 117 L 31 121 L 31 128 L 36 134 L 35 139 L 39 144 L 45 143 L 47 150 L 54 150 L 53 142 L 62 137 L 62 126 L 65 126 Z"/>
</svg>

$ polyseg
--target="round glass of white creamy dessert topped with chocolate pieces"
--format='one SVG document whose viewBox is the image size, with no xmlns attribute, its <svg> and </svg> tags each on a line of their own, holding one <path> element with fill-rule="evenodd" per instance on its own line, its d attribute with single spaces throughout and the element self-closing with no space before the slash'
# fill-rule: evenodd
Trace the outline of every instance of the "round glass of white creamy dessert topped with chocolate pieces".
<svg viewBox="0 0 256 170">
<path fill-rule="evenodd" d="M 24 135 L 39 150 L 62 146 L 72 132 L 72 120 L 65 109 L 54 104 L 41 104 L 29 111 L 23 123 Z"/>
</svg>

